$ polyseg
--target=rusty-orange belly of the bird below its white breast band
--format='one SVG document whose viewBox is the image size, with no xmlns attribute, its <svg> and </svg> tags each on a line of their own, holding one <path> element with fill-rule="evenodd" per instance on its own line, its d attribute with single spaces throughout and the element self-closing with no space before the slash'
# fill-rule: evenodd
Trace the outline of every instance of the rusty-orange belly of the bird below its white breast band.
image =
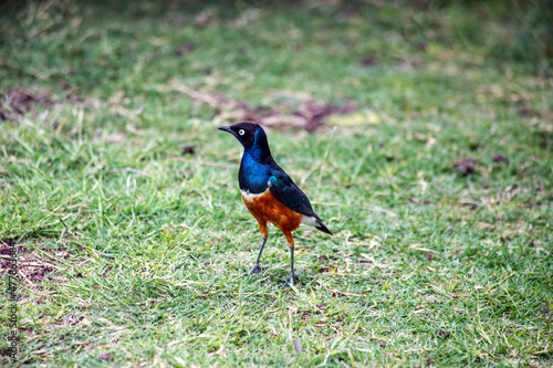
<svg viewBox="0 0 553 368">
<path fill-rule="evenodd" d="M 302 214 L 282 204 L 270 189 L 261 194 L 242 192 L 242 199 L 248 210 L 259 222 L 269 221 L 283 232 L 296 230 L 302 222 Z"/>
</svg>

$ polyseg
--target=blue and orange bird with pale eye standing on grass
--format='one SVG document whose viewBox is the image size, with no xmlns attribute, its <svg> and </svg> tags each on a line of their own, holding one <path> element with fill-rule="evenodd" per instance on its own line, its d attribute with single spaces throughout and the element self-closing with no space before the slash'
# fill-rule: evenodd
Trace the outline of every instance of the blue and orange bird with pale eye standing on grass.
<svg viewBox="0 0 553 368">
<path fill-rule="evenodd" d="M 239 123 L 218 128 L 232 134 L 243 146 L 238 171 L 238 185 L 246 208 L 255 218 L 262 241 L 251 274 L 261 272 L 259 260 L 269 238 L 267 224 L 275 225 L 286 238 L 290 249 L 290 276 L 286 282 L 294 285 L 294 238 L 292 231 L 301 223 L 332 235 L 323 220 L 313 211 L 305 193 L 274 161 L 263 128 L 253 123 Z"/>
</svg>

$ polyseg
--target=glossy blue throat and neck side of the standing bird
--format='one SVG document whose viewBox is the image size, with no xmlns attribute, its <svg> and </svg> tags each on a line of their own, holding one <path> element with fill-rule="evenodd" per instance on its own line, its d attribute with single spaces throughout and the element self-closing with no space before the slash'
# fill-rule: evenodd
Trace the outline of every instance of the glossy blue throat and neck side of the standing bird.
<svg viewBox="0 0 553 368">
<path fill-rule="evenodd" d="M 241 190 L 262 193 L 269 187 L 271 162 L 273 161 L 267 135 L 263 129 L 255 132 L 253 145 L 244 147 L 238 182 Z"/>
</svg>

